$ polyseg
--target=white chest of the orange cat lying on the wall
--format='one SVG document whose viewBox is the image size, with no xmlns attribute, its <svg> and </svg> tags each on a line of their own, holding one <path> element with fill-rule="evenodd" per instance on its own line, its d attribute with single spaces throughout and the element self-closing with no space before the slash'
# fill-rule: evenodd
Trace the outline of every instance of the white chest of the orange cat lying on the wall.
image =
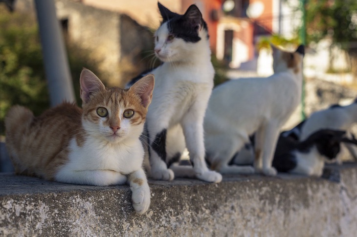
<svg viewBox="0 0 357 237">
<path fill-rule="evenodd" d="M 78 146 L 72 139 L 66 166 L 74 171 L 113 170 L 126 175 L 140 169 L 143 154 L 139 140 L 127 145 L 104 144 L 88 138 L 83 146 Z"/>
</svg>

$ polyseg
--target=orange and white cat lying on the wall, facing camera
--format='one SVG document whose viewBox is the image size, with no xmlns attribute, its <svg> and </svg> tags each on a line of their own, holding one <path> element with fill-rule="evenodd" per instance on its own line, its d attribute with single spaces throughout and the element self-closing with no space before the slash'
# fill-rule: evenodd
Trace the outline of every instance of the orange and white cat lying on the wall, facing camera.
<svg viewBox="0 0 357 237">
<path fill-rule="evenodd" d="M 80 109 L 64 102 L 39 117 L 14 106 L 5 119 L 6 147 L 20 175 L 65 183 L 115 185 L 128 181 L 137 213 L 150 205 L 139 139 L 151 103 L 154 76 L 130 89 L 105 88 L 88 69 L 80 76 Z"/>
</svg>

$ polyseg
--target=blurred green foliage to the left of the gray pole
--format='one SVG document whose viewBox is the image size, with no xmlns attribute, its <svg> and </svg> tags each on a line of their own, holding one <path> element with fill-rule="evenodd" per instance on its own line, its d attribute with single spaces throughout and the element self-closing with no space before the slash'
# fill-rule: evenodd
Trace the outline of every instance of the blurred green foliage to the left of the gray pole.
<svg viewBox="0 0 357 237">
<path fill-rule="evenodd" d="M 34 19 L 0 8 L 0 134 L 14 104 L 34 114 L 49 106 L 41 45 Z"/>
</svg>

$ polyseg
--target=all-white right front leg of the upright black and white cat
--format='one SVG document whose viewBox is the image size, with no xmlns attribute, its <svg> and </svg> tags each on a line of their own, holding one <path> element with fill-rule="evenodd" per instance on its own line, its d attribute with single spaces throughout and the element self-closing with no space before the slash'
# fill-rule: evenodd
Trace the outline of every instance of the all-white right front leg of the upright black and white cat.
<svg viewBox="0 0 357 237">
<path fill-rule="evenodd" d="M 202 108 L 192 108 L 190 113 L 184 116 L 182 128 L 186 146 L 196 178 L 207 182 L 219 183 L 222 181 L 222 175 L 216 171 L 209 170 L 204 160 L 203 116 L 204 111 L 202 111 Z"/>
</svg>

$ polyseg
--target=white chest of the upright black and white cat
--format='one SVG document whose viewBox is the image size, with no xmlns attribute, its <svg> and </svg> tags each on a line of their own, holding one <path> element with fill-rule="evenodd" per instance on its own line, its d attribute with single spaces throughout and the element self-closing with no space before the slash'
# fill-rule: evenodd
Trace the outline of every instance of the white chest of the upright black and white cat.
<svg viewBox="0 0 357 237">
<path fill-rule="evenodd" d="M 214 70 L 210 61 L 196 66 L 165 63 L 153 71 L 156 83 L 147 120 L 175 114 L 169 124 L 176 124 L 197 101 L 204 103 L 202 110 L 205 110 L 213 88 Z"/>
</svg>

